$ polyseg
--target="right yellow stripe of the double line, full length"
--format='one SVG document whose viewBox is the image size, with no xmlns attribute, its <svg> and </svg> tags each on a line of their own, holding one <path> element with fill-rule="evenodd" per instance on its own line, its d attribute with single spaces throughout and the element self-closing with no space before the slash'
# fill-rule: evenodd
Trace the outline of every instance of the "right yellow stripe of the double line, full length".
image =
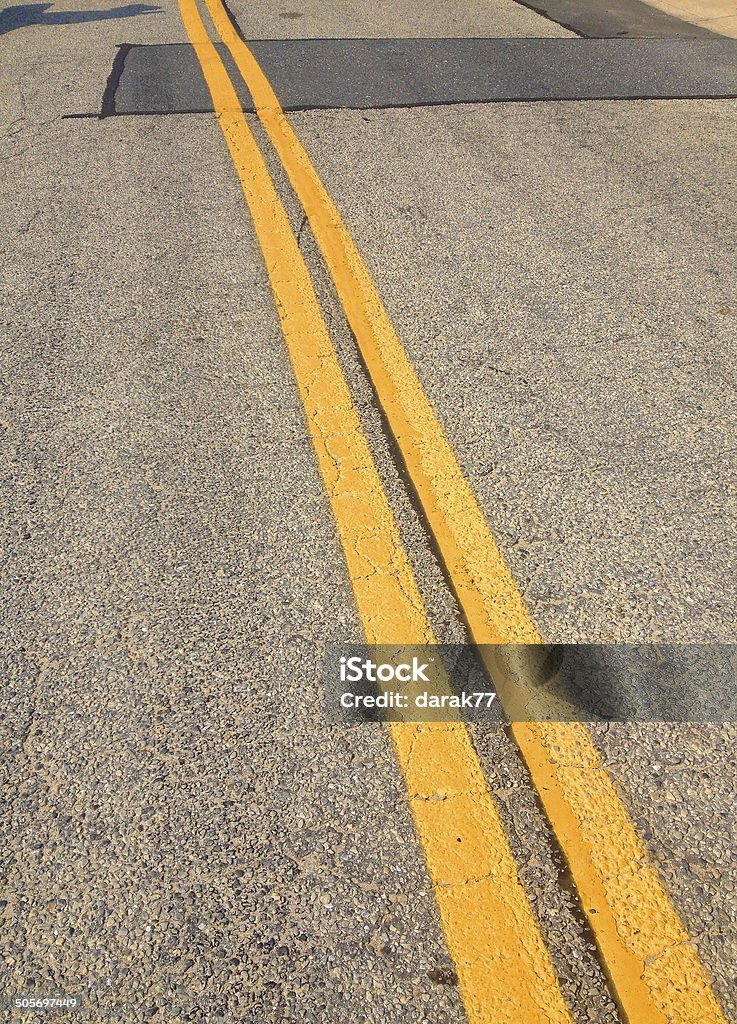
<svg viewBox="0 0 737 1024">
<path fill-rule="evenodd" d="M 335 204 L 221 0 L 206 2 L 307 214 L 473 639 L 480 645 L 540 642 Z M 526 707 L 525 694 L 520 699 L 514 689 L 503 687 L 500 699 L 512 719 Z M 513 730 L 630 1024 L 726 1024 L 588 730 L 576 723 L 523 723 Z"/>
</svg>

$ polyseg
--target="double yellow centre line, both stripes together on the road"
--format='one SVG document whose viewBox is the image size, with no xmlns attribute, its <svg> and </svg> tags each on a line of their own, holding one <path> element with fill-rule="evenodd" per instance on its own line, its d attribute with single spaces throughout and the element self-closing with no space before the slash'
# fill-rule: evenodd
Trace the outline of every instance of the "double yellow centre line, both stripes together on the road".
<svg viewBox="0 0 737 1024">
<path fill-rule="evenodd" d="M 345 224 L 221 0 L 206 3 L 308 217 L 473 639 L 538 643 Z M 376 644 L 433 643 L 287 213 L 196 0 L 179 0 L 179 6 L 251 211 L 365 638 Z M 516 696 L 507 694 L 508 714 Z M 471 1024 L 570 1024 L 466 728 L 391 728 Z M 726 1024 L 589 732 L 576 724 L 525 723 L 513 731 L 624 1018 L 630 1024 Z"/>
</svg>

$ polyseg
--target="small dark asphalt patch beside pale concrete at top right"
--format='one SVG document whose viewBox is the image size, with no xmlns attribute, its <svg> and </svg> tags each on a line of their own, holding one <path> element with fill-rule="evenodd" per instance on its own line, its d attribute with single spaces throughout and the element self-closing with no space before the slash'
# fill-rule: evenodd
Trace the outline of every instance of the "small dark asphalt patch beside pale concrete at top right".
<svg viewBox="0 0 737 1024">
<path fill-rule="evenodd" d="M 530 10 L 590 39 L 714 39 L 714 33 L 689 25 L 641 0 L 516 0 Z"/>
</svg>

